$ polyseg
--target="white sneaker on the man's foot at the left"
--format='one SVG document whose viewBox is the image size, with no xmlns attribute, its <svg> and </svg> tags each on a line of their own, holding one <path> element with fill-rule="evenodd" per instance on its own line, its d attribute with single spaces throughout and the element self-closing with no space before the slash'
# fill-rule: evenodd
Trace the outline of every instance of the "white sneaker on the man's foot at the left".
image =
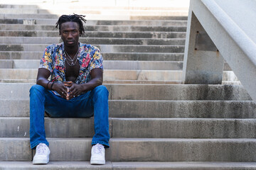
<svg viewBox="0 0 256 170">
<path fill-rule="evenodd" d="M 33 157 L 33 164 L 48 164 L 50 149 L 44 143 L 36 146 L 36 154 Z"/>
</svg>

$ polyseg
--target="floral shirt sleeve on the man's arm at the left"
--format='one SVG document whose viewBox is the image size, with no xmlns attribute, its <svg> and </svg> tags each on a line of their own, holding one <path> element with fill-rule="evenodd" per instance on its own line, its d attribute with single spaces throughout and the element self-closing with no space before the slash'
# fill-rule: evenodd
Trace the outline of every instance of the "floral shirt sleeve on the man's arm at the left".
<svg viewBox="0 0 256 170">
<path fill-rule="evenodd" d="M 50 72 L 53 72 L 52 50 L 50 50 L 50 46 L 46 47 L 46 50 L 43 53 L 43 58 L 40 60 L 39 69 L 40 68 L 45 68 Z"/>
</svg>

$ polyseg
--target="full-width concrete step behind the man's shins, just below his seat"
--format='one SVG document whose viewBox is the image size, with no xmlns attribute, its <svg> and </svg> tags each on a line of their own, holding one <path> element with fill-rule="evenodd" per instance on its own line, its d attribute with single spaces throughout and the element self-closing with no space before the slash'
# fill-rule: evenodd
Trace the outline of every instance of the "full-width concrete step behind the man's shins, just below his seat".
<svg viewBox="0 0 256 170">
<path fill-rule="evenodd" d="M 92 137 L 93 118 L 45 118 L 46 137 Z M 110 118 L 110 137 L 255 138 L 254 119 Z M 72 128 L 70 128 L 72 127 Z M 29 137 L 29 118 L 0 118 L 0 137 Z"/>
</svg>

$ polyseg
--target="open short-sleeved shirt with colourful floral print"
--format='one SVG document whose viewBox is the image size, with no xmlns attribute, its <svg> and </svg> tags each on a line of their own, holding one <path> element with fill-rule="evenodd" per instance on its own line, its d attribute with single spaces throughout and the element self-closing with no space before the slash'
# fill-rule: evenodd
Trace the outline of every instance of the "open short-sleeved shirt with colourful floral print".
<svg viewBox="0 0 256 170">
<path fill-rule="evenodd" d="M 103 58 L 100 55 L 100 50 L 92 45 L 79 43 L 78 62 L 80 64 L 80 71 L 75 80 L 76 84 L 85 84 L 90 81 L 90 72 L 92 69 L 103 69 Z M 63 42 L 46 47 L 39 68 L 45 68 L 50 71 L 50 81 L 55 81 L 55 83 L 65 81 L 65 52 Z M 53 93 L 60 96 L 56 91 L 53 91 Z"/>
</svg>

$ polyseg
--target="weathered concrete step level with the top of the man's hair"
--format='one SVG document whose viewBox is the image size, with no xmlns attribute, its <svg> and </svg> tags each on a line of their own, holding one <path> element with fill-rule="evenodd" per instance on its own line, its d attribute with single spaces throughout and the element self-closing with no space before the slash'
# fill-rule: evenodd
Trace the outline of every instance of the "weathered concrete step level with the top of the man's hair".
<svg viewBox="0 0 256 170">
<path fill-rule="evenodd" d="M 18 24 L 25 24 L 25 25 L 53 25 L 55 26 L 55 23 L 58 21 L 58 16 L 56 18 L 53 18 L 52 16 L 49 16 L 49 18 L 42 18 L 41 15 L 20 15 L 20 14 L 0 14 L 0 23 L 18 23 Z M 117 16 L 116 20 L 111 20 L 109 18 L 108 20 L 102 20 L 100 17 L 102 16 L 95 16 L 98 18 L 88 18 L 85 25 L 89 26 L 97 26 L 97 25 L 107 25 L 107 26 L 176 26 L 176 27 L 186 27 L 187 21 L 157 21 L 157 20 L 137 20 L 137 21 L 129 21 L 125 20 L 122 17 L 123 16 Z M 107 18 L 108 16 L 105 16 Z M 118 19 L 120 17 L 120 19 Z M 126 17 L 126 16 L 125 16 Z M 127 18 L 128 19 L 128 18 Z"/>
</svg>

